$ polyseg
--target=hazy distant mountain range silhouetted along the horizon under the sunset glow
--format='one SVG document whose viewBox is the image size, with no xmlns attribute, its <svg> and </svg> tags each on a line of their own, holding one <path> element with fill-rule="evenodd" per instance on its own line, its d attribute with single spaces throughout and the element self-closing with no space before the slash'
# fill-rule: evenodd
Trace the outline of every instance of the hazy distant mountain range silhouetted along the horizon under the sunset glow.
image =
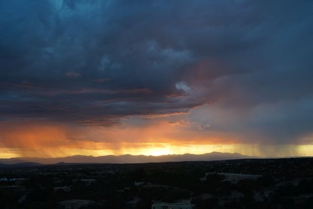
<svg viewBox="0 0 313 209">
<path fill-rule="evenodd" d="M 182 161 L 221 161 L 235 159 L 260 158 L 255 156 L 241 155 L 239 153 L 222 153 L 211 152 L 201 155 L 183 154 L 183 155 L 162 155 L 162 156 L 145 156 L 145 155 L 106 155 L 106 156 L 84 156 L 74 155 L 64 158 L 10 158 L 0 159 L 2 164 L 21 164 L 27 162 L 41 164 L 68 164 L 68 163 L 160 163 L 160 162 L 182 162 Z M 1 165 L 0 165 L 1 166 Z M 32 165 L 30 165 L 32 166 Z M 38 165 L 40 166 L 40 165 Z"/>
</svg>

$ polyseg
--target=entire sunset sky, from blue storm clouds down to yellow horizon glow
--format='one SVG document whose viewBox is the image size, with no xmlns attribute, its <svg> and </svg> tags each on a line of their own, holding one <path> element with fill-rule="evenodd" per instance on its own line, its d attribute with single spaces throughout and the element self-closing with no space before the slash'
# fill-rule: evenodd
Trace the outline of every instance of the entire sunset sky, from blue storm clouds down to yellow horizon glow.
<svg viewBox="0 0 313 209">
<path fill-rule="evenodd" d="M 313 156 L 312 0 L 1 0 L 0 158 Z"/>
</svg>

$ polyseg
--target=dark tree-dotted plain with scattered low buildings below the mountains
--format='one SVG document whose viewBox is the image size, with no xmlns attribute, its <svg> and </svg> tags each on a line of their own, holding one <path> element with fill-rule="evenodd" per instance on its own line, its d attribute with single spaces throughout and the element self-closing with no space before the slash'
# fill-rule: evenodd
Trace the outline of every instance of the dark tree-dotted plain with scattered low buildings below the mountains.
<svg viewBox="0 0 313 209">
<path fill-rule="evenodd" d="M 88 200 L 82 209 L 151 209 L 182 200 L 194 209 L 313 206 L 313 158 L 31 166 L 0 168 L 2 208 L 65 209 L 67 200 Z"/>
</svg>

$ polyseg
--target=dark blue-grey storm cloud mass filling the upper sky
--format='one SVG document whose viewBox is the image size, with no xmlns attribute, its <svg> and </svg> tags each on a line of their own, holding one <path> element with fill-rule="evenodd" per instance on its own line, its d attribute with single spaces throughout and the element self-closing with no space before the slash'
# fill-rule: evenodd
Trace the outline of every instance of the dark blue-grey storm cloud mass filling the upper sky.
<svg viewBox="0 0 313 209">
<path fill-rule="evenodd" d="M 284 103 L 283 121 L 264 109 L 252 124 L 285 138 L 296 119 L 292 136 L 309 133 L 312 11 L 310 0 L 1 1 L 0 117 L 110 126 Z"/>
</svg>

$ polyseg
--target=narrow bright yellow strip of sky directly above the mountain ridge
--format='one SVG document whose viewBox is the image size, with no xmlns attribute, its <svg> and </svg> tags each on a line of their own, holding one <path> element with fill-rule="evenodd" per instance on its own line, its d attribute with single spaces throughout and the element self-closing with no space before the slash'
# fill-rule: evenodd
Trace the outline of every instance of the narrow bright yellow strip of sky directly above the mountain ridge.
<svg viewBox="0 0 313 209">
<path fill-rule="evenodd" d="M 92 143 L 92 142 L 90 142 Z M 105 145 L 104 145 L 105 146 Z M 255 145 L 255 144 L 177 144 L 177 143 L 123 143 L 117 149 L 78 149 L 78 148 L 58 148 L 44 150 L 29 150 L 22 152 L 19 149 L 1 148 L 0 158 L 14 157 L 66 157 L 73 155 L 173 155 L 173 154 L 204 154 L 211 152 L 239 153 L 242 155 L 257 157 L 291 157 L 291 156 L 313 156 L 313 145 Z"/>
</svg>

